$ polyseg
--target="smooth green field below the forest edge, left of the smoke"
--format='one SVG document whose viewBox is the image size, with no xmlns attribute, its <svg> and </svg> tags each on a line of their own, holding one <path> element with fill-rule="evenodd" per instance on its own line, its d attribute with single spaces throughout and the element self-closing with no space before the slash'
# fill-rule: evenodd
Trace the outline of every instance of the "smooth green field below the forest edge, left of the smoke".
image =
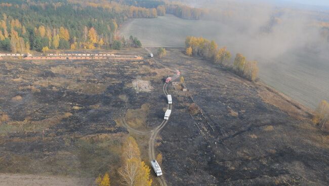
<svg viewBox="0 0 329 186">
<path fill-rule="evenodd" d="M 209 28 L 212 29 L 203 29 Z M 126 23 L 120 34 L 126 38 L 138 37 L 143 46 L 184 46 L 185 37 L 207 36 L 216 38 L 220 25 L 214 21 L 184 20 L 173 15 L 155 19 L 134 19 Z"/>
</svg>

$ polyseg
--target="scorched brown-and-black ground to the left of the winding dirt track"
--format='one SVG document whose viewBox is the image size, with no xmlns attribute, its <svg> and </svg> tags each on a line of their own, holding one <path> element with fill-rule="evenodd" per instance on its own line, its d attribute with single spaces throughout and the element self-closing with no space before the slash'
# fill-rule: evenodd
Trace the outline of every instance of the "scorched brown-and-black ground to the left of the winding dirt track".
<svg viewBox="0 0 329 186">
<path fill-rule="evenodd" d="M 147 124 L 159 124 L 166 72 L 149 59 L 1 61 L 0 116 L 9 120 L 0 120 L 0 172 L 118 177 L 128 131 L 116 120 L 148 103 Z M 136 79 L 152 91 L 136 91 Z"/>
</svg>

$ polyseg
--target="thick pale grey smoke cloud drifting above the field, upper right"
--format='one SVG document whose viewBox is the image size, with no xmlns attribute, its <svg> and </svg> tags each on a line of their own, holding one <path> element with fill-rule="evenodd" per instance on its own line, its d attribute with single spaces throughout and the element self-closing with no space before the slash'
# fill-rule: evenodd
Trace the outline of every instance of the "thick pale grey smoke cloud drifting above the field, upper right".
<svg viewBox="0 0 329 186">
<path fill-rule="evenodd" d="M 255 2 L 221 2 L 215 10 L 208 18 L 222 19 L 216 40 L 233 54 L 266 59 L 296 50 L 327 48 L 320 27 L 308 12 Z"/>
</svg>

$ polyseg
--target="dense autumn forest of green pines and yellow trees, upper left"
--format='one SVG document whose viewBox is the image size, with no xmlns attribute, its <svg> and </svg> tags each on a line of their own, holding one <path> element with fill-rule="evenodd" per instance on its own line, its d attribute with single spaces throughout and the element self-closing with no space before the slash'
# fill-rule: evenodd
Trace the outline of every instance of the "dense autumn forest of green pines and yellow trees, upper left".
<svg viewBox="0 0 329 186">
<path fill-rule="evenodd" d="M 125 39 L 116 35 L 118 25 L 130 17 L 156 17 L 156 9 L 152 13 L 153 9 L 140 7 L 98 5 L 101 4 L 82 1 L 3 4 L 0 6 L 0 50 L 26 53 L 29 50 L 141 47 L 136 37 Z"/>
</svg>

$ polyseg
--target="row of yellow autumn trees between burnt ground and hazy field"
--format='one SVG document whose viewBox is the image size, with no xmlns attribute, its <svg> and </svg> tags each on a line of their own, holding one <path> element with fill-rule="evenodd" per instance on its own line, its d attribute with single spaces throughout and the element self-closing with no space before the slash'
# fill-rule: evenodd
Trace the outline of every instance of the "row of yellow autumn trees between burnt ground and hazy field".
<svg viewBox="0 0 329 186">
<path fill-rule="evenodd" d="M 185 49 L 188 56 L 201 57 L 221 65 L 250 81 L 255 81 L 258 76 L 259 68 L 256 61 L 247 61 L 243 55 L 236 54 L 234 62 L 231 64 L 231 53 L 225 47 L 218 48 L 218 44 L 214 40 L 187 36 Z"/>
</svg>

